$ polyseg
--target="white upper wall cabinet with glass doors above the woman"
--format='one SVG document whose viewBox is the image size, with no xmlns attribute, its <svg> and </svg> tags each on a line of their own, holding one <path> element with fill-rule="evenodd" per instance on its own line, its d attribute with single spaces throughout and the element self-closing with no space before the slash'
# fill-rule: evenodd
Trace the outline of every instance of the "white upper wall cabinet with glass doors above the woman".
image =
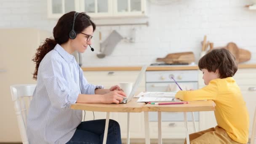
<svg viewBox="0 0 256 144">
<path fill-rule="evenodd" d="M 69 11 L 92 18 L 143 17 L 146 0 L 48 0 L 48 18 L 59 19 Z"/>
</svg>

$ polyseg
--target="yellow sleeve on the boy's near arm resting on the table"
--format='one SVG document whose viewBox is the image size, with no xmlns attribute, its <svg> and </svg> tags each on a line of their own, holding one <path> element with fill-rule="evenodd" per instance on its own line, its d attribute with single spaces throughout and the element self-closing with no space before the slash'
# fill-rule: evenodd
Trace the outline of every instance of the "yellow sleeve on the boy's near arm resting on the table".
<svg viewBox="0 0 256 144">
<path fill-rule="evenodd" d="M 178 91 L 175 98 L 182 101 L 215 100 L 217 96 L 216 80 L 211 80 L 205 87 L 195 91 Z"/>
</svg>

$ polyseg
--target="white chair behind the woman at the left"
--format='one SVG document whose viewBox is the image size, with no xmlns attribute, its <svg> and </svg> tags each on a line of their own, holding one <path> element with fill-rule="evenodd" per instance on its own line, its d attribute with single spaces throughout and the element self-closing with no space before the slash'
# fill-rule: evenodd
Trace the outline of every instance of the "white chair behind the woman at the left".
<svg viewBox="0 0 256 144">
<path fill-rule="evenodd" d="M 19 131 L 23 144 L 29 144 L 26 133 L 27 109 L 26 102 L 30 103 L 36 85 L 11 85 L 11 98 L 18 119 Z M 27 101 L 26 101 L 27 100 Z M 27 106 L 28 107 L 28 106 Z"/>
</svg>

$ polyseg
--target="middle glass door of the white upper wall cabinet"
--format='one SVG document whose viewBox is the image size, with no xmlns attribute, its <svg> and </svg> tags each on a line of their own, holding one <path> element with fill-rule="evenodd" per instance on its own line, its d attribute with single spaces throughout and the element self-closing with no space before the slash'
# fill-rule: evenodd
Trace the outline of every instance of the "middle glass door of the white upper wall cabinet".
<svg viewBox="0 0 256 144">
<path fill-rule="evenodd" d="M 91 17 L 112 16 L 112 0 L 81 0 L 80 11 Z"/>
</svg>

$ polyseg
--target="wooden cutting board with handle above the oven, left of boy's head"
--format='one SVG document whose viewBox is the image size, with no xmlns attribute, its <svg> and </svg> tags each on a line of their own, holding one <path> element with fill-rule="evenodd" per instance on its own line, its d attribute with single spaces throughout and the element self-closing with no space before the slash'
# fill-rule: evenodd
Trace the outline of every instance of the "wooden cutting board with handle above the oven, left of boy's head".
<svg viewBox="0 0 256 144">
<path fill-rule="evenodd" d="M 193 52 L 183 53 L 169 53 L 165 58 L 157 58 L 157 61 L 164 61 L 167 64 L 174 63 L 188 63 L 195 62 L 195 55 Z"/>
</svg>

